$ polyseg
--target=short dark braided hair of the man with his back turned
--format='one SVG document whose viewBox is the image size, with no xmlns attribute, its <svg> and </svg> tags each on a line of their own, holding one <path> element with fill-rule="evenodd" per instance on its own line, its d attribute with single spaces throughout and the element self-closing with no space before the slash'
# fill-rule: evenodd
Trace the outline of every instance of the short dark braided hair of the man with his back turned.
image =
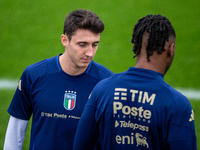
<svg viewBox="0 0 200 150">
<path fill-rule="evenodd" d="M 133 52 L 135 57 L 138 56 L 142 46 L 142 36 L 144 32 L 149 33 L 148 44 L 146 47 L 147 60 L 153 55 L 153 52 L 157 50 L 159 54 L 165 51 L 165 42 L 169 41 L 169 36 L 175 35 L 174 28 L 170 21 L 161 15 L 147 15 L 141 18 L 133 29 L 133 35 L 131 42 L 134 44 Z"/>
</svg>

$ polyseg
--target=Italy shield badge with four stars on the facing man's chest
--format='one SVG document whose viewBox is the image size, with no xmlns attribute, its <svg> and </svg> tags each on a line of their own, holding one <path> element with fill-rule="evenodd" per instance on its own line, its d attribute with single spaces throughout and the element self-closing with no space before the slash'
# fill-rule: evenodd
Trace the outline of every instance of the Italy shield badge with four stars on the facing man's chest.
<svg viewBox="0 0 200 150">
<path fill-rule="evenodd" d="M 65 96 L 64 96 L 64 107 L 67 110 L 72 110 L 74 109 L 76 104 L 76 92 L 74 91 L 65 91 Z"/>
</svg>

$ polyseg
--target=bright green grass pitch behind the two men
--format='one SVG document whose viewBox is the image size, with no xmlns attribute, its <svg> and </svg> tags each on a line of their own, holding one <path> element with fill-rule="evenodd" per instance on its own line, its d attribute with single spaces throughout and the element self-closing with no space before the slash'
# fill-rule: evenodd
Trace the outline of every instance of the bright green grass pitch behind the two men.
<svg viewBox="0 0 200 150">
<path fill-rule="evenodd" d="M 131 36 L 138 19 L 148 14 L 166 16 L 175 28 L 177 40 L 175 59 L 165 81 L 175 88 L 200 89 L 199 0 L 1 0 L 0 78 L 19 79 L 26 66 L 64 52 L 60 42 L 63 22 L 68 12 L 78 8 L 92 10 L 105 23 L 94 60 L 115 73 L 135 64 Z M 13 90 L 0 90 L 0 148 L 13 94 Z M 200 101 L 190 101 L 200 149 Z M 24 150 L 28 149 L 29 136 L 27 132 Z"/>
</svg>

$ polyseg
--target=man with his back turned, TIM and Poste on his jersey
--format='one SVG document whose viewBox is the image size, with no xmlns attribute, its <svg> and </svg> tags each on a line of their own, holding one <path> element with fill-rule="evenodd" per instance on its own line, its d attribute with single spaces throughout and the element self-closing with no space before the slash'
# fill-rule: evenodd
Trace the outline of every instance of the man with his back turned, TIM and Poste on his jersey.
<svg viewBox="0 0 200 150">
<path fill-rule="evenodd" d="M 133 29 L 135 67 L 100 81 L 80 119 L 74 150 L 97 138 L 104 150 L 196 150 L 189 100 L 164 81 L 176 35 L 161 15 L 141 18 Z"/>
</svg>

